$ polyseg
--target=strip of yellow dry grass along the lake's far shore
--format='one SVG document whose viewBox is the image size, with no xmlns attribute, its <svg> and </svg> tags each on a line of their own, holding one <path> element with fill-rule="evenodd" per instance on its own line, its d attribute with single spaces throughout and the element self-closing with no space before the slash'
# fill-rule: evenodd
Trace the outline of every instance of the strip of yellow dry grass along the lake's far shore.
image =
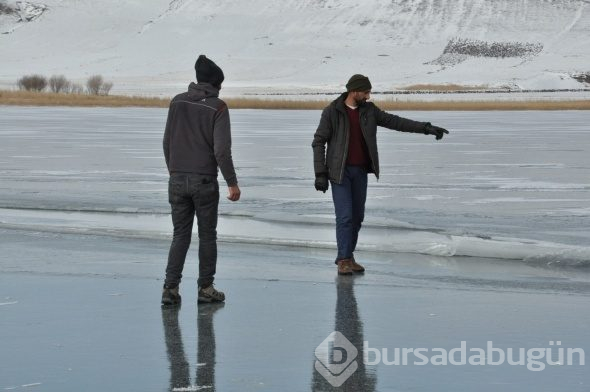
<svg viewBox="0 0 590 392">
<path fill-rule="evenodd" d="M 259 98 L 226 98 L 231 109 L 323 109 L 328 100 L 278 100 Z M 170 100 L 163 98 L 54 94 L 26 91 L 0 91 L 0 105 L 18 106 L 105 106 L 161 107 Z M 590 110 L 590 100 L 572 101 L 436 101 L 412 102 L 374 100 L 383 110 Z"/>
</svg>

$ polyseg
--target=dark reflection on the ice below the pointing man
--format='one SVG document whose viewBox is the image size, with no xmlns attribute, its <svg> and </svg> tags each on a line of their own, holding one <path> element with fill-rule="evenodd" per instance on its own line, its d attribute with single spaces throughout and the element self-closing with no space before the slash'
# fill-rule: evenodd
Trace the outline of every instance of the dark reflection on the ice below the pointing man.
<svg viewBox="0 0 590 392">
<path fill-rule="evenodd" d="M 354 370 L 354 372 L 346 378 L 346 381 L 340 386 L 334 386 L 335 380 L 328 380 L 320 372 L 318 372 L 319 362 L 317 358 L 314 361 L 313 377 L 311 381 L 311 390 L 314 392 L 319 391 L 363 391 L 371 392 L 375 391 L 377 385 L 377 374 L 372 371 L 368 371 L 363 362 L 363 322 L 359 316 L 356 298 L 354 295 L 354 276 L 338 276 L 336 278 L 336 312 L 335 312 L 335 327 L 334 331 L 340 332 L 344 338 L 346 338 L 354 347 L 357 349 L 357 356 L 354 359 L 356 365 L 351 365 L 340 375 L 346 375 L 347 371 Z M 341 339 L 334 341 L 334 348 L 341 346 L 339 342 Z M 330 353 L 329 357 L 334 359 L 337 355 L 335 351 Z M 340 350 L 342 351 L 342 350 Z M 344 360 L 342 355 L 340 360 Z M 353 361 L 353 362 L 354 362 Z M 332 373 L 332 372 L 331 372 Z M 338 376 L 338 374 L 333 374 Z M 332 381 L 332 383 L 330 382 Z"/>
</svg>

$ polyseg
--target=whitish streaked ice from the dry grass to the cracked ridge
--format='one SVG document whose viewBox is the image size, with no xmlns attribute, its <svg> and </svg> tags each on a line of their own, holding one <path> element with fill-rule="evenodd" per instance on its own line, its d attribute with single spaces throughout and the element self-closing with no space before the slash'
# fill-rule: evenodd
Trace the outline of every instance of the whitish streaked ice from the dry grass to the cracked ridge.
<svg viewBox="0 0 590 392">
<path fill-rule="evenodd" d="M 0 227 L 169 236 L 166 112 L 0 107 Z M 331 196 L 313 187 L 320 112 L 230 113 L 242 200 L 222 197 L 220 239 L 333 247 Z M 451 134 L 380 129 L 362 249 L 590 264 L 589 112 L 396 114 Z"/>
</svg>

